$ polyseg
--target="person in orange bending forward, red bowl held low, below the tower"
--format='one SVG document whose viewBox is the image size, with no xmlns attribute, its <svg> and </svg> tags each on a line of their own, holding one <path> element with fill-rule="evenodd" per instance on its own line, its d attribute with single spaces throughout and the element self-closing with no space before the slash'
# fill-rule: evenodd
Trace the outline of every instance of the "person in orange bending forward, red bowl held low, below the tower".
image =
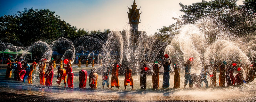
<svg viewBox="0 0 256 102">
<path fill-rule="evenodd" d="M 132 86 L 133 89 L 133 79 L 132 79 L 132 69 L 127 67 L 125 69 L 125 74 L 124 74 L 124 88 L 126 89 L 126 86 L 128 86 L 127 79 L 130 80 L 130 86 Z"/>
</svg>

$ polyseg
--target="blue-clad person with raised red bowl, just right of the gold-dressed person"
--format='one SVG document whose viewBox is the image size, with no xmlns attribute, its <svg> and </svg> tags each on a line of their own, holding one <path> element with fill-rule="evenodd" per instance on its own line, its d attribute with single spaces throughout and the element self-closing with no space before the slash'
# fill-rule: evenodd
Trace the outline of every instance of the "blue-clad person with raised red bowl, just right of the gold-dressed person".
<svg viewBox="0 0 256 102">
<path fill-rule="evenodd" d="M 194 58 L 192 57 L 185 63 L 185 82 L 184 82 L 184 88 L 186 88 L 186 85 L 188 84 L 190 88 L 193 87 L 193 80 L 191 78 L 191 66 L 193 64 Z"/>
</svg>

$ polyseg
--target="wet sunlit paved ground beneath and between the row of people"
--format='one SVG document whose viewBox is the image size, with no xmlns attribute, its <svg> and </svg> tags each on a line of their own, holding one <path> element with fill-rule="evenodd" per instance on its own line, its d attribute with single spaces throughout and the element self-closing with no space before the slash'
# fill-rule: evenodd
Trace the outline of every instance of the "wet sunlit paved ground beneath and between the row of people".
<svg viewBox="0 0 256 102">
<path fill-rule="evenodd" d="M 3 66 L 3 65 L 1 65 Z M 162 89 L 162 80 L 160 75 L 160 88 L 152 89 L 152 77 L 148 76 L 146 90 L 139 88 L 139 75 L 134 75 L 134 89 L 123 86 L 123 76 L 120 76 L 120 89 L 102 88 L 101 77 L 99 75 L 98 89 L 90 89 L 87 82 L 86 88 L 78 87 L 78 72 L 85 69 L 89 72 L 91 68 L 76 68 L 74 65 L 74 88 L 67 88 L 56 84 L 47 87 L 39 85 L 38 76 L 33 77 L 34 83 L 28 84 L 13 80 L 13 78 L 4 78 L 6 68 L 0 68 L 0 99 L 4 101 L 256 101 L 256 88 L 254 80 L 252 83 L 232 87 L 210 87 L 210 88 L 192 88 L 184 89 L 184 76 L 181 73 L 180 89 Z M 193 72 L 193 71 L 192 71 Z M 197 72 L 197 71 L 194 71 Z M 198 72 L 197 72 L 198 73 Z M 173 73 L 170 74 L 170 87 L 173 86 Z M 13 76 L 13 75 L 12 75 Z M 56 82 L 57 72 L 54 71 L 53 83 Z M 111 77 L 111 76 L 110 76 Z M 87 77 L 88 78 L 88 77 Z M 183 78 L 183 79 L 182 79 Z M 218 79 L 218 78 L 217 78 Z M 89 81 L 89 80 L 87 80 Z M 150 83 L 151 82 L 151 83 Z M 218 83 L 218 82 L 217 82 Z M 63 84 L 63 82 L 61 83 Z M 136 86 L 135 86 L 136 85 Z"/>
</svg>

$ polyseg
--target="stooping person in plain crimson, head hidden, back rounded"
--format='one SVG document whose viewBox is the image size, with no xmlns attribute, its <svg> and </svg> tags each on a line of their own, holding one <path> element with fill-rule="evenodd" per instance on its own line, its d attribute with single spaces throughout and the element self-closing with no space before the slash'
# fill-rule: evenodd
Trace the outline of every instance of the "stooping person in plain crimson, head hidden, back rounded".
<svg viewBox="0 0 256 102">
<path fill-rule="evenodd" d="M 79 71 L 79 87 L 80 88 L 86 87 L 87 75 L 88 74 L 86 70 Z"/>
</svg>

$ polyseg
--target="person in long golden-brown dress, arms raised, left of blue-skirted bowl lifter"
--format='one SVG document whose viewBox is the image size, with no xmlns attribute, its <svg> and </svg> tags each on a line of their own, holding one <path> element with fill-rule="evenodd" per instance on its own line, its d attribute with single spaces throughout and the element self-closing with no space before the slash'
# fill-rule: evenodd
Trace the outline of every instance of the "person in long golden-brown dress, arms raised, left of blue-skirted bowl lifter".
<svg viewBox="0 0 256 102">
<path fill-rule="evenodd" d="M 157 61 L 157 63 L 158 63 L 158 61 Z M 159 88 L 159 70 L 162 67 L 162 64 L 158 63 L 158 64 L 160 64 L 160 67 L 158 67 L 157 63 L 153 64 L 153 75 L 152 75 L 153 89 Z"/>
</svg>

